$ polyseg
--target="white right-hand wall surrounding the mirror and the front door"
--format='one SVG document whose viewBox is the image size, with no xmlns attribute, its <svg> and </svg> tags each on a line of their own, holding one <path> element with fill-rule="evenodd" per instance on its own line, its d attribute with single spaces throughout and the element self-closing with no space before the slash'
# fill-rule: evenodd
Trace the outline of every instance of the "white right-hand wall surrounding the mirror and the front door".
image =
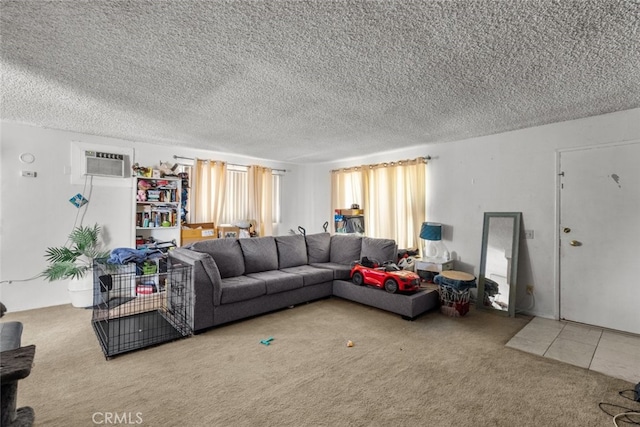
<svg viewBox="0 0 640 427">
<path fill-rule="evenodd" d="M 535 238 L 521 245 L 517 307 L 529 307 L 525 287 L 534 285 L 530 313 L 553 318 L 558 315 L 557 151 L 637 139 L 640 109 L 316 165 L 310 181 L 317 183 L 319 198 L 310 220 L 331 220 L 331 169 L 430 155 L 425 220 L 443 223 L 456 269 L 478 274 L 484 212 L 522 212 L 523 228 L 534 230 Z"/>
</svg>

